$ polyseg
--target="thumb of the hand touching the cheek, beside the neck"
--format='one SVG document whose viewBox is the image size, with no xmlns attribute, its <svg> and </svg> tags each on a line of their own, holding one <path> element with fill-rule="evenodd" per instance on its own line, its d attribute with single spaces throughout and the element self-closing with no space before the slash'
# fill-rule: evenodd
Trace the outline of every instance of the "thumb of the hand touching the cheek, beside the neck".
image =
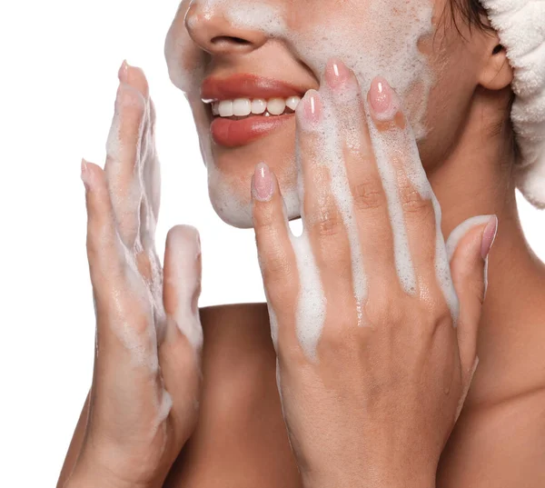
<svg viewBox="0 0 545 488">
<path fill-rule="evenodd" d="M 460 300 L 458 344 L 463 378 L 469 381 L 477 355 L 488 255 L 498 230 L 495 215 L 473 217 L 452 231 L 447 241 L 454 288 Z"/>
</svg>

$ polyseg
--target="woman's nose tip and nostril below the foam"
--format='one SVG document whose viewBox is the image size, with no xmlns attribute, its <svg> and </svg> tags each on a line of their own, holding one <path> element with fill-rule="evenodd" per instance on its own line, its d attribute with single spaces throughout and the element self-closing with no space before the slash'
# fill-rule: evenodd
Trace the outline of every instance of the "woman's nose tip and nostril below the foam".
<svg viewBox="0 0 545 488">
<path fill-rule="evenodd" d="M 268 36 L 262 31 L 233 26 L 223 8 L 229 5 L 203 10 L 199 2 L 193 2 L 185 15 L 187 32 L 203 51 L 211 55 L 244 54 L 267 42 Z"/>
</svg>

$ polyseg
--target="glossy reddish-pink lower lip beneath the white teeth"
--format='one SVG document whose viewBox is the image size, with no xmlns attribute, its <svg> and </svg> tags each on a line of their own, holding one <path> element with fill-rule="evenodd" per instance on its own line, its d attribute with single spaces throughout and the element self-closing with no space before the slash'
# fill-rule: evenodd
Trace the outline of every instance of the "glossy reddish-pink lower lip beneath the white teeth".
<svg viewBox="0 0 545 488">
<path fill-rule="evenodd" d="M 216 144 L 224 147 L 239 147 L 271 134 L 292 116 L 293 114 L 270 117 L 255 115 L 241 120 L 215 117 L 210 125 L 210 131 Z"/>
</svg>

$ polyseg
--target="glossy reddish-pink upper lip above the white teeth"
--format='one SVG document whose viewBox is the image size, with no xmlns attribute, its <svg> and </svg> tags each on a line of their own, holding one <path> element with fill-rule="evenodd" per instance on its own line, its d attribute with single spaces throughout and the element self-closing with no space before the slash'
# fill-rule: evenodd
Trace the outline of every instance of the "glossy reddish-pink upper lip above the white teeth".
<svg viewBox="0 0 545 488">
<path fill-rule="evenodd" d="M 201 98 L 209 103 L 235 98 L 288 98 L 303 96 L 307 90 L 280 80 L 240 73 L 226 78 L 209 76 L 203 81 Z"/>
</svg>

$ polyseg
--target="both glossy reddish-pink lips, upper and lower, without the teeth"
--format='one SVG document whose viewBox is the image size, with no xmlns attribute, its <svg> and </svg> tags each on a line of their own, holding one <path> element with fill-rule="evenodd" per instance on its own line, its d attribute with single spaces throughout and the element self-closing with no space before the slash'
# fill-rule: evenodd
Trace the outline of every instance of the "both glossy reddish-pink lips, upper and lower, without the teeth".
<svg viewBox="0 0 545 488">
<path fill-rule="evenodd" d="M 209 77 L 203 82 L 201 97 L 203 102 L 233 100 L 237 98 L 264 99 L 289 98 L 304 95 L 302 86 L 264 78 L 257 75 L 238 74 L 228 78 Z M 208 105 L 210 107 L 210 105 Z M 227 118 L 213 116 L 210 126 L 213 141 L 224 147 L 239 147 L 250 144 L 286 124 L 293 114 L 284 115 L 249 115 L 246 118 Z"/>
</svg>

